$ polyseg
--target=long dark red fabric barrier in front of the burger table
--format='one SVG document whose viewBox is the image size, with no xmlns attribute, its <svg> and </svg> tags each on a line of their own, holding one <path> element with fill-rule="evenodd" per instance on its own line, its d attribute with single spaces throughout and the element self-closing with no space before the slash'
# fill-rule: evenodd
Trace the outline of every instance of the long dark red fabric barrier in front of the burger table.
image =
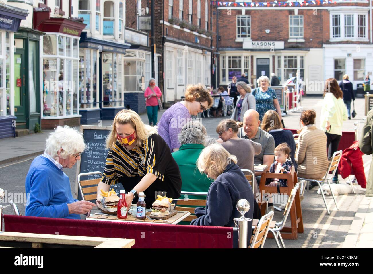
<svg viewBox="0 0 373 274">
<path fill-rule="evenodd" d="M 233 227 L 182 226 L 171 224 L 4 215 L 7 232 L 135 239 L 132 248 L 232 248 Z"/>
</svg>

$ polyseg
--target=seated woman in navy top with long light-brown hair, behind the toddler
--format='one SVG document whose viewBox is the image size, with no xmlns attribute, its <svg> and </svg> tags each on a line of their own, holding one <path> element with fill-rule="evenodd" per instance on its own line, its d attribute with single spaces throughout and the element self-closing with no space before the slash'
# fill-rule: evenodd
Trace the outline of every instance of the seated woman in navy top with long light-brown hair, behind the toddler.
<svg viewBox="0 0 373 274">
<path fill-rule="evenodd" d="M 288 144 L 290 148 L 290 158 L 294 164 L 295 171 L 298 170 L 298 164 L 295 162 L 295 141 L 291 130 L 283 129 L 279 114 L 274 110 L 268 110 L 261 121 L 261 129 L 268 132 L 275 139 L 276 147 L 282 143 Z"/>
</svg>

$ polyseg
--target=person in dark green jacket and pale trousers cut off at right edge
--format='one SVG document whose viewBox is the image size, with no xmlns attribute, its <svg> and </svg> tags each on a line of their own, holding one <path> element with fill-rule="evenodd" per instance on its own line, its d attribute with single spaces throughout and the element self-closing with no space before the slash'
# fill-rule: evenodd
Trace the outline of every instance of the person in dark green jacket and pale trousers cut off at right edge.
<svg viewBox="0 0 373 274">
<path fill-rule="evenodd" d="M 364 154 L 367 154 L 367 155 L 372 154 L 372 147 L 373 147 L 372 127 L 373 127 L 373 110 L 370 110 L 367 114 L 367 119 L 365 120 L 364 127 L 363 127 L 363 134 L 361 135 L 361 140 L 359 142 L 360 150 Z M 372 158 L 372 163 L 370 163 L 365 196 L 373 197 L 373 158 Z"/>
</svg>

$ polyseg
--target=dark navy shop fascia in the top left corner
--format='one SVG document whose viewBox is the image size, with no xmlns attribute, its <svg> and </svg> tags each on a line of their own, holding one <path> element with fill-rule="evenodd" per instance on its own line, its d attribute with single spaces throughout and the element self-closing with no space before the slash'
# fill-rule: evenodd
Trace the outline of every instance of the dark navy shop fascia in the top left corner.
<svg viewBox="0 0 373 274">
<path fill-rule="evenodd" d="M 25 20 L 27 15 L 27 10 L 0 4 L 0 29 L 17 32 L 21 20 Z"/>
</svg>

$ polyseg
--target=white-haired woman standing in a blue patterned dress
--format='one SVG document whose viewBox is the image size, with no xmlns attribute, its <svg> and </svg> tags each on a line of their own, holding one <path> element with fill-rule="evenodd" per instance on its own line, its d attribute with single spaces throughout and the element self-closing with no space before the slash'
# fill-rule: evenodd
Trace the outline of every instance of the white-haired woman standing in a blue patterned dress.
<svg viewBox="0 0 373 274">
<path fill-rule="evenodd" d="M 263 116 L 268 110 L 277 111 L 281 120 L 281 108 L 276 92 L 274 89 L 268 87 L 270 84 L 269 78 L 262 75 L 258 78 L 257 83 L 259 87 L 255 88 L 252 93 L 255 97 L 256 111 L 259 113 L 259 120 L 263 120 Z"/>
</svg>

